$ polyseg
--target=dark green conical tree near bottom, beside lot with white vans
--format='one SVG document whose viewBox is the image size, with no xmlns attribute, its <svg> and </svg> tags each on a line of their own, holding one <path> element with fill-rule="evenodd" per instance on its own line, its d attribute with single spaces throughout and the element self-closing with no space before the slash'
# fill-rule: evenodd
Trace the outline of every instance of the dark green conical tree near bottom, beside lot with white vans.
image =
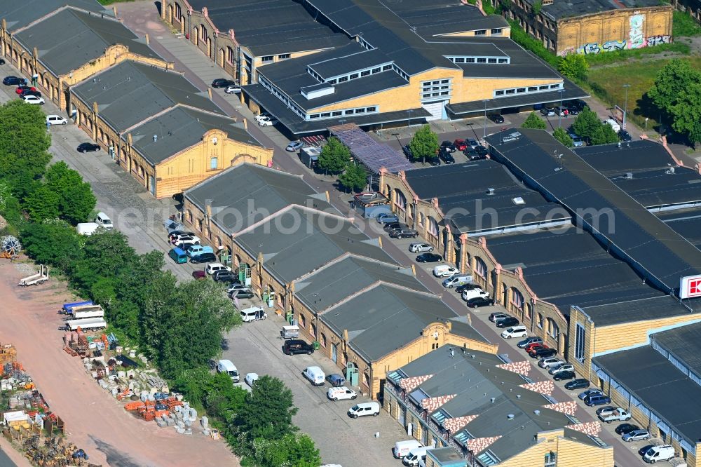
<svg viewBox="0 0 701 467">
<path fill-rule="evenodd" d="M 246 403 L 236 417 L 236 425 L 248 440 L 273 440 L 297 431 L 292 425 L 292 416 L 296 413 L 292 391 L 280 379 L 265 375 L 256 381 L 246 396 Z"/>
</svg>

